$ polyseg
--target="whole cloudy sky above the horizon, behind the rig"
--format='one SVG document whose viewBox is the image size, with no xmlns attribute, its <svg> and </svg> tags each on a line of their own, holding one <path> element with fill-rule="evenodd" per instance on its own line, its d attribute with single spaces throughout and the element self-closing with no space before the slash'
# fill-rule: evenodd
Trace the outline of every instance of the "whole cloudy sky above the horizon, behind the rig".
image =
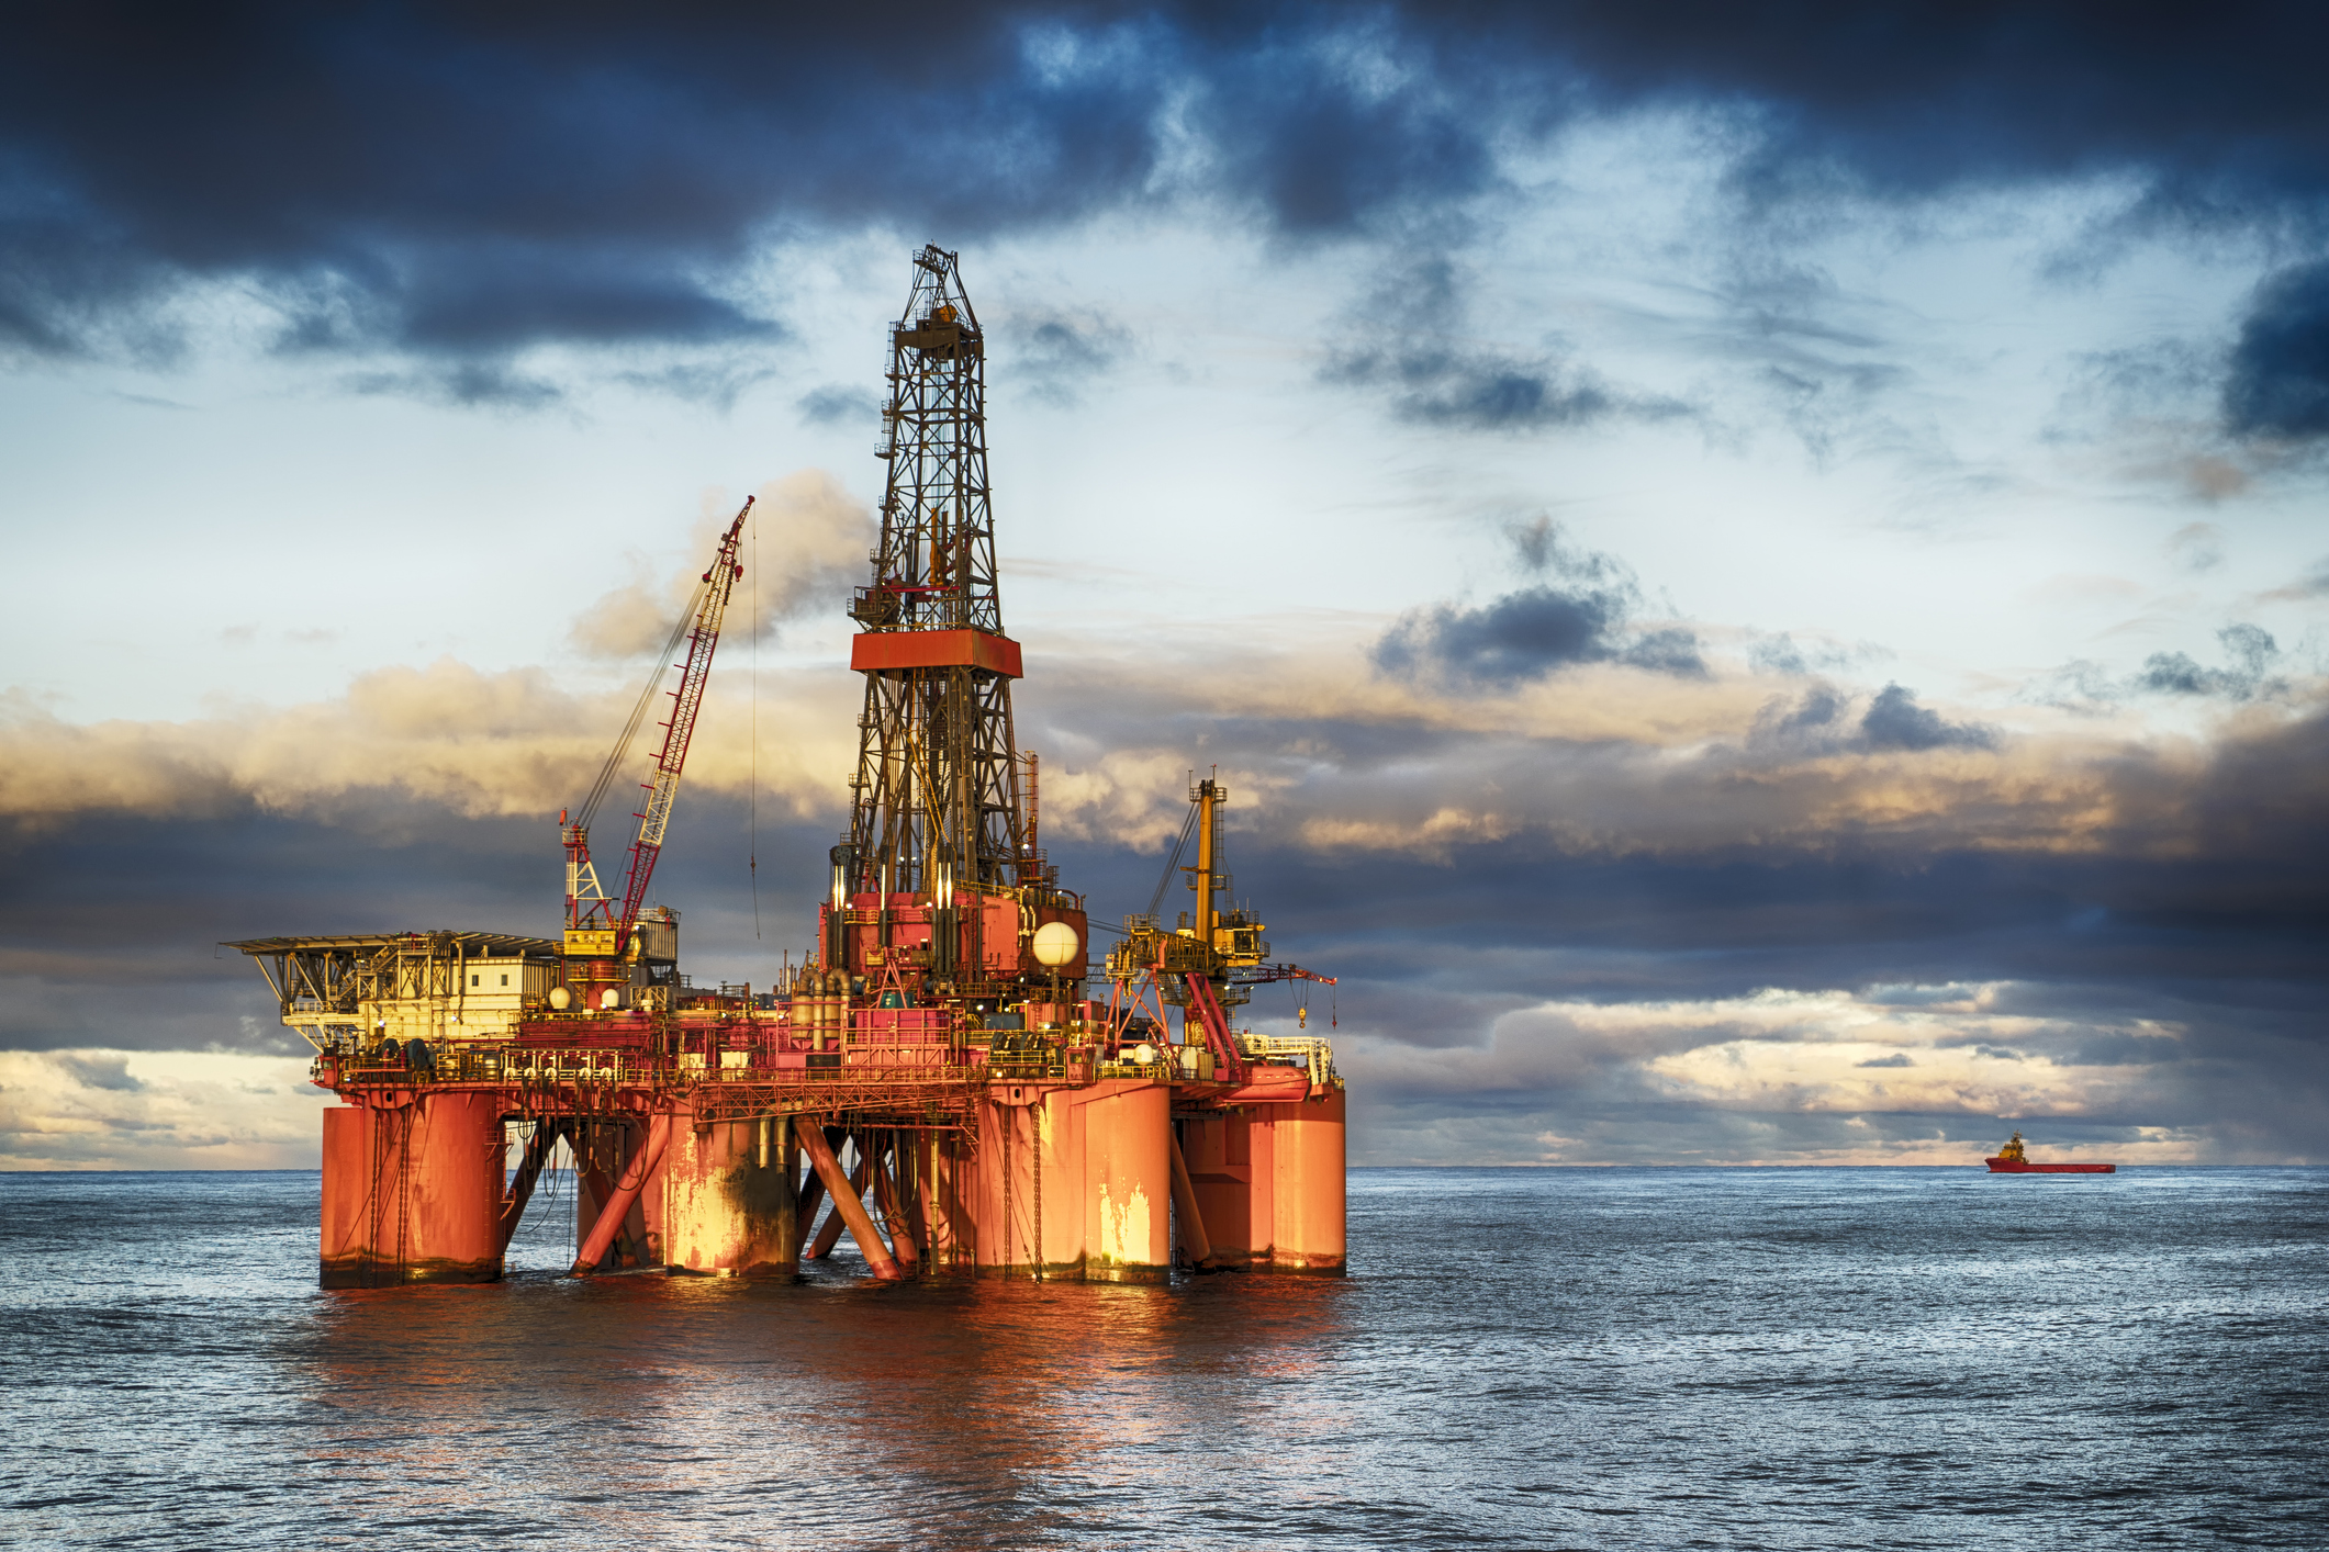
<svg viewBox="0 0 2329 1552">
<path fill-rule="evenodd" d="M 7 14 L 0 1168 L 312 1168 L 217 945 L 552 931 L 745 496 L 799 959 L 925 242 L 1062 882 L 1218 770 L 1353 1163 L 2329 1161 L 2306 7 Z"/>
</svg>

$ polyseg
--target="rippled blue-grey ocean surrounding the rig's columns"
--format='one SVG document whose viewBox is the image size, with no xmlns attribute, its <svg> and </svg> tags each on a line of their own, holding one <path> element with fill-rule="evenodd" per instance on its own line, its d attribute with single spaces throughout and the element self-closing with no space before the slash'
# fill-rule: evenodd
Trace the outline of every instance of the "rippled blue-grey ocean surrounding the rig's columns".
<svg viewBox="0 0 2329 1552">
<path fill-rule="evenodd" d="M 9 1547 L 2324 1547 L 2329 1170 L 1353 1170 L 1351 1275 L 324 1294 L 0 1175 Z M 848 1240 L 843 1240 L 843 1247 Z"/>
</svg>

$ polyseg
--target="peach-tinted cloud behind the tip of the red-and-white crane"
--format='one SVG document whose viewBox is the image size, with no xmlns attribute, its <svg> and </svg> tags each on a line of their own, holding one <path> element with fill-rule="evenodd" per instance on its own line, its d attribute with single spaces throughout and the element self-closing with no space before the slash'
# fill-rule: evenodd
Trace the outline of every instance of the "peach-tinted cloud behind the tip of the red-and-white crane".
<svg viewBox="0 0 2329 1552">
<path fill-rule="evenodd" d="M 687 612 L 703 563 L 734 519 L 724 496 L 708 500 L 680 565 L 659 582 L 640 577 L 592 603 L 575 619 L 575 647 L 596 658 L 657 652 Z M 759 570 L 738 579 L 722 640 L 766 635 L 820 610 L 838 612 L 864 579 L 866 554 L 880 537 L 871 510 L 824 470 L 799 470 L 759 486 L 752 526 L 757 542 L 748 544 L 745 558 Z"/>
</svg>

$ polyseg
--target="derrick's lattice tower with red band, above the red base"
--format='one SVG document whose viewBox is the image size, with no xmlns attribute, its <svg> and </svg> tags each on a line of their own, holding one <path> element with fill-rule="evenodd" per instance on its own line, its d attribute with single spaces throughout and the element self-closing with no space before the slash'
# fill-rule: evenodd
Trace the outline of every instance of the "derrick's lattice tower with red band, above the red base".
<svg viewBox="0 0 2329 1552">
<path fill-rule="evenodd" d="M 955 254 L 925 247 L 890 326 L 873 579 L 850 614 L 866 677 L 836 894 L 1006 889 L 1025 847 L 1011 738 L 1018 642 L 1004 635 L 987 505 L 985 335 Z"/>
</svg>

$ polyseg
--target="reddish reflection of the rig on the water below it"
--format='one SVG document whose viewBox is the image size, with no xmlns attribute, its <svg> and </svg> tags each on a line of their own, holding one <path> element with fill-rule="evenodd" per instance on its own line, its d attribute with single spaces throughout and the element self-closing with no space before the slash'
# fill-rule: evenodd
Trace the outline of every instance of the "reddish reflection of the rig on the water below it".
<svg viewBox="0 0 2329 1552">
<path fill-rule="evenodd" d="M 303 1389 L 331 1422 L 310 1459 L 405 1510 L 415 1482 L 466 1480 L 429 1508 L 610 1533 L 647 1505 L 750 1512 L 771 1492 L 801 1533 L 862 1533 L 869 1512 L 950 1540 L 1067 1533 L 1202 1492 L 1237 1436 L 1295 1445 L 1290 1410 L 1323 1424 L 1283 1398 L 1321 1368 L 1348 1291 L 845 1273 L 321 1296 Z"/>
</svg>

